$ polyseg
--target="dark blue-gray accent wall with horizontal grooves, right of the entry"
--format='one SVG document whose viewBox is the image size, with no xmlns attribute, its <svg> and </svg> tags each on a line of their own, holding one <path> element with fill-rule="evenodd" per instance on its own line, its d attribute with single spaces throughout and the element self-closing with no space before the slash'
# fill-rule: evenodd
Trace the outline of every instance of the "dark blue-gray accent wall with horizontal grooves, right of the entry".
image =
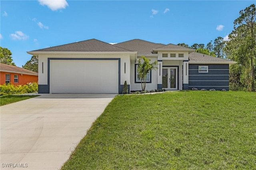
<svg viewBox="0 0 256 170">
<path fill-rule="evenodd" d="M 199 73 L 198 66 L 208 66 L 208 73 Z M 229 90 L 228 64 L 189 64 L 188 89 Z"/>
</svg>

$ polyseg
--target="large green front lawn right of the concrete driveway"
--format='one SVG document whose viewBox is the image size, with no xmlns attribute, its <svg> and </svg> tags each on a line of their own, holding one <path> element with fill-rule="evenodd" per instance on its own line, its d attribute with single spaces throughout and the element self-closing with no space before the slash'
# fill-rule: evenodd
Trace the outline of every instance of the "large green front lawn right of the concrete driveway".
<svg viewBox="0 0 256 170">
<path fill-rule="evenodd" d="M 256 93 L 119 95 L 62 170 L 256 169 Z"/>
</svg>

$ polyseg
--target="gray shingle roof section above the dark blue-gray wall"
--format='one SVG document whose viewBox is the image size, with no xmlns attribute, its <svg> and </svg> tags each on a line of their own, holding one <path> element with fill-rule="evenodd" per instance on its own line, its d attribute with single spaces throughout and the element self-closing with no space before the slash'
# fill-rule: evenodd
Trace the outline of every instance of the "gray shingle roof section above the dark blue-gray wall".
<svg viewBox="0 0 256 170">
<path fill-rule="evenodd" d="M 192 52 L 188 54 L 189 61 L 192 62 L 201 62 L 201 63 L 214 63 L 214 62 L 221 62 L 221 63 L 236 63 L 235 61 L 230 61 L 227 59 L 222 59 L 218 57 L 213 57 L 211 55 L 206 55 L 202 53 Z"/>
</svg>

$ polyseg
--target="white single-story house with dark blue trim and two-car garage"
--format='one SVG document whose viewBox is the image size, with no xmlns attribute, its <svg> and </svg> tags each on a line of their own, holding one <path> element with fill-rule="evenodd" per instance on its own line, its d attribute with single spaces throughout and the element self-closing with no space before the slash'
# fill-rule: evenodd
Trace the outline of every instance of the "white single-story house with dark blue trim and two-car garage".
<svg viewBox="0 0 256 170">
<path fill-rule="evenodd" d="M 141 90 L 137 59 L 158 61 L 147 90 L 229 89 L 229 65 L 236 63 L 174 44 L 130 40 L 111 45 L 91 39 L 28 51 L 38 56 L 38 93 L 122 93 Z"/>
</svg>

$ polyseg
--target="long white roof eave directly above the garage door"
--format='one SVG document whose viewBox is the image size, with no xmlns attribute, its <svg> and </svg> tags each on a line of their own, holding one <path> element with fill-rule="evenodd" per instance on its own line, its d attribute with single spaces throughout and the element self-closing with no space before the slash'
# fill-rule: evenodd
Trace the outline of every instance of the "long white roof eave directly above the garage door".
<svg viewBox="0 0 256 170">
<path fill-rule="evenodd" d="M 27 51 L 28 54 L 137 54 L 137 51 Z"/>
</svg>

